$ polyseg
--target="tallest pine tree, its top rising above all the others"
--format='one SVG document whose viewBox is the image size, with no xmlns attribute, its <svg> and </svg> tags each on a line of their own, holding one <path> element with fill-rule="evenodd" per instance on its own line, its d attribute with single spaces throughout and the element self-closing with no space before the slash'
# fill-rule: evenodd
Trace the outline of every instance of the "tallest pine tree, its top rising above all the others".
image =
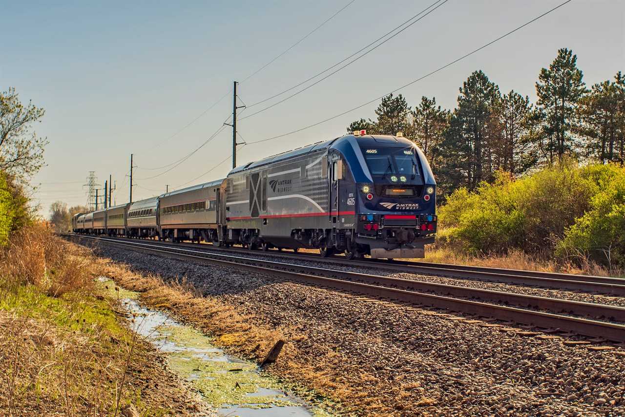
<svg viewBox="0 0 625 417">
<path fill-rule="evenodd" d="M 576 154 L 578 144 L 572 134 L 577 102 L 586 93 L 577 56 L 567 48 L 557 51 L 549 69 L 542 68 L 536 83 L 542 131 L 546 141 L 543 157 L 553 163 L 565 154 Z"/>
</svg>

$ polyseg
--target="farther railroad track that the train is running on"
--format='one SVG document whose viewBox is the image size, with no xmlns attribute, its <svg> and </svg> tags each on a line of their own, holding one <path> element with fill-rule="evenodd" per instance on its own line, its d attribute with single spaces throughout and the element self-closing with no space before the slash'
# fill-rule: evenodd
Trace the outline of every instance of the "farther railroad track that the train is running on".
<svg viewBox="0 0 625 417">
<path fill-rule="evenodd" d="M 68 234 L 69 236 L 84 236 Z M 137 239 L 115 238 L 131 242 Z M 150 241 L 150 240 L 144 240 Z M 202 251 L 219 251 L 221 253 L 241 253 L 253 255 L 260 252 L 252 252 L 243 248 L 219 248 L 211 244 L 194 243 L 168 243 L 151 241 L 170 247 L 197 248 Z M 262 252 L 268 256 L 280 256 L 287 259 L 302 259 L 319 263 L 331 263 L 349 267 L 359 266 L 362 268 L 381 268 L 408 274 L 447 276 L 452 278 L 474 279 L 477 281 L 489 281 L 505 284 L 517 284 L 534 286 L 539 288 L 564 289 L 567 291 L 584 291 L 591 293 L 607 294 L 612 296 L 625 296 L 625 279 L 611 278 L 607 276 L 586 276 L 575 274 L 559 274 L 539 271 L 521 271 L 517 269 L 486 268 L 481 266 L 464 266 L 454 264 L 430 264 L 425 262 L 411 261 L 379 261 L 367 259 L 366 261 L 347 260 L 340 256 L 321 258 L 316 254 L 292 253 L 285 251 L 270 250 Z"/>
</svg>

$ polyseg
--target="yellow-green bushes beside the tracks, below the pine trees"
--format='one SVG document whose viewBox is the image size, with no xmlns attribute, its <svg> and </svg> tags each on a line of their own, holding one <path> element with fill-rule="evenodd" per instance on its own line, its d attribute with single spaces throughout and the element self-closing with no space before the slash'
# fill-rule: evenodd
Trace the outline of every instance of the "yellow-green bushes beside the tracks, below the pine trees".
<svg viewBox="0 0 625 417">
<path fill-rule="evenodd" d="M 580 168 L 572 162 L 517 180 L 499 173 L 494 184 L 482 183 L 474 193 L 459 189 L 449 196 L 439 209 L 441 240 L 473 254 L 521 249 L 552 255 L 557 245 L 558 253 L 580 248 L 596 258 L 610 244 L 612 249 L 619 243 L 623 247 L 623 208 L 617 204 L 622 203 L 622 181 L 623 168 Z M 591 220 L 595 229 L 589 228 Z M 601 249 L 592 252 L 582 244 L 584 239 Z M 612 250 L 613 256 L 621 256 L 618 253 Z"/>
</svg>

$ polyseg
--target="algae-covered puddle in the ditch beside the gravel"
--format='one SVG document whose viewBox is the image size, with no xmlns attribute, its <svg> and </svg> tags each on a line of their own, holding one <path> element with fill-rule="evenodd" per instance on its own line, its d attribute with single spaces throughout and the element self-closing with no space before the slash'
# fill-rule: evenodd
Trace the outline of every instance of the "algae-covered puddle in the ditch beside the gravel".
<svg viewBox="0 0 625 417">
<path fill-rule="evenodd" d="M 134 315 L 134 331 L 167 353 L 169 368 L 190 381 L 204 400 L 228 417 L 329 417 L 304 399 L 288 395 L 278 381 L 262 373 L 255 363 L 234 358 L 211 344 L 196 329 L 144 308 L 138 294 L 100 279 L 112 296 L 121 299 Z M 119 294 L 119 295 L 118 295 Z"/>
</svg>

